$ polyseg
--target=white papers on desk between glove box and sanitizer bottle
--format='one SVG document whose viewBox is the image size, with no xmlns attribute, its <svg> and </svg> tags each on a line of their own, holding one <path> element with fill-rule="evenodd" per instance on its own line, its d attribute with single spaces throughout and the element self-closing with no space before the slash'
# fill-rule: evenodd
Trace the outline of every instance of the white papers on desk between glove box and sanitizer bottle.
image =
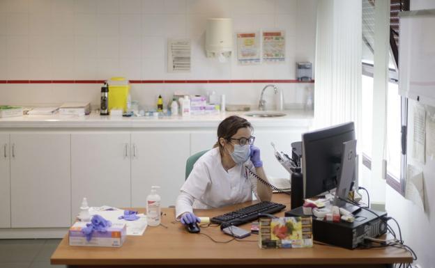
<svg viewBox="0 0 435 268">
<path fill-rule="evenodd" d="M 125 219 L 118 219 L 119 216 L 123 216 L 124 210 L 107 205 L 91 207 L 89 208 L 89 214 L 91 214 L 91 216 L 98 214 L 108 221 L 112 221 L 112 223 L 125 223 L 127 226 L 127 235 L 143 235 L 147 226 L 145 214 L 137 214 L 137 216 L 139 216 L 137 221 L 125 221 Z"/>
</svg>

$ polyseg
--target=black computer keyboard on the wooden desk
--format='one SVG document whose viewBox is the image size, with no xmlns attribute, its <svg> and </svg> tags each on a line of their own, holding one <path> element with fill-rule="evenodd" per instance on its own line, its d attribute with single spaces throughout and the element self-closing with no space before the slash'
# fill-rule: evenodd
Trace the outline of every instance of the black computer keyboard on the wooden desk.
<svg viewBox="0 0 435 268">
<path fill-rule="evenodd" d="M 248 207 L 243 207 L 240 210 L 228 212 L 211 218 L 211 223 L 229 224 L 239 226 L 243 223 L 248 223 L 259 218 L 260 213 L 273 214 L 284 210 L 286 206 L 269 201 L 263 201 Z"/>
</svg>

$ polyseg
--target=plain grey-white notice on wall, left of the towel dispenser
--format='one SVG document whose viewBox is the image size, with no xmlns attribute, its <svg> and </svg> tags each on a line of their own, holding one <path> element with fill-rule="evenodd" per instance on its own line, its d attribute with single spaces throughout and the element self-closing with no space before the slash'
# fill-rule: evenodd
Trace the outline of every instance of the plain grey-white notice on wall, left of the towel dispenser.
<svg viewBox="0 0 435 268">
<path fill-rule="evenodd" d="M 190 40 L 168 39 L 168 72 L 190 72 Z"/>
</svg>

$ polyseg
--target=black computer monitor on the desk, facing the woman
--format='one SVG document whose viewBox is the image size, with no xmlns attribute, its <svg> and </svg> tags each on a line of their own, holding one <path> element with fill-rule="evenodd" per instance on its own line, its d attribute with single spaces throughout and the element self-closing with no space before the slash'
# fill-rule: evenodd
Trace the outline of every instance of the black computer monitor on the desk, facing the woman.
<svg viewBox="0 0 435 268">
<path fill-rule="evenodd" d="M 343 143 L 354 139 L 353 122 L 302 135 L 304 198 L 318 196 L 337 187 Z"/>
</svg>

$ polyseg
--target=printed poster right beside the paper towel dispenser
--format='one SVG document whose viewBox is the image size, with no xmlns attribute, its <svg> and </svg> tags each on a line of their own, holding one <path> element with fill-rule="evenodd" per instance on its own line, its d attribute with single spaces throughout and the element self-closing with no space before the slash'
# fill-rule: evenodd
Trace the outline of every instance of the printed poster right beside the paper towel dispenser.
<svg viewBox="0 0 435 268">
<path fill-rule="evenodd" d="M 258 33 L 237 33 L 237 59 L 242 65 L 260 63 Z"/>
</svg>

